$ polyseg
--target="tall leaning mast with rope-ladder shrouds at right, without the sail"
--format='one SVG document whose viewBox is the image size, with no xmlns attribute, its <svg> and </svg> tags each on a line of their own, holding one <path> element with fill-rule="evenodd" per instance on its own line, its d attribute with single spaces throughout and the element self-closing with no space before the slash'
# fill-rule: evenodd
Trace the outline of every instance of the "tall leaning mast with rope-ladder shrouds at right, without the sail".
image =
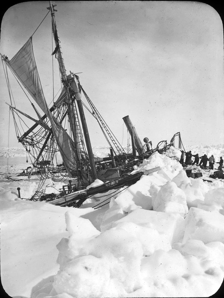
<svg viewBox="0 0 224 298">
<path fill-rule="evenodd" d="M 92 113 L 91 113 L 92 116 L 97 120 L 97 122 L 100 125 L 100 128 L 102 130 L 102 133 L 105 136 L 105 139 L 107 140 L 108 144 L 110 145 L 112 161 L 113 161 L 113 155 L 115 155 L 116 160 L 121 165 L 122 158 L 119 158 L 119 156 L 123 157 L 126 155 L 126 153 L 125 153 L 124 149 L 122 148 L 122 146 L 120 145 L 120 143 L 118 142 L 118 140 L 116 139 L 116 137 L 114 136 L 114 134 L 112 133 L 112 131 L 110 130 L 110 128 L 108 127 L 108 125 L 106 124 L 106 122 L 104 121 L 104 119 L 102 118 L 102 116 L 100 115 L 97 108 L 94 106 L 94 104 L 92 103 L 92 101 L 90 100 L 90 98 L 88 97 L 86 92 L 84 91 L 83 87 L 80 84 L 79 77 L 77 75 L 73 74 L 72 72 L 70 72 L 70 75 L 66 75 L 66 70 L 64 68 L 63 58 L 62 58 L 62 54 L 61 54 L 61 49 L 60 49 L 58 34 L 57 34 L 57 29 L 56 29 L 55 14 L 54 14 L 54 11 L 56 11 L 56 10 L 54 10 L 54 7 L 56 5 L 52 5 L 51 1 L 49 1 L 49 3 L 50 3 L 50 7 L 48 7 L 48 9 L 51 10 L 52 30 L 53 30 L 53 35 L 54 35 L 54 40 L 55 40 L 55 45 L 56 45 L 56 48 L 55 48 L 55 51 L 53 52 L 53 54 L 55 54 L 56 52 L 59 53 L 59 55 L 57 55 L 57 60 L 59 63 L 59 68 L 60 68 L 60 73 L 61 73 L 61 81 L 62 81 L 63 85 L 67 86 L 67 97 L 71 99 L 70 104 L 68 106 L 72 107 L 72 105 L 73 105 L 73 108 L 70 108 L 69 113 L 68 113 L 69 117 L 70 117 L 69 122 L 70 122 L 70 125 L 72 125 L 73 138 L 74 138 L 75 143 L 77 144 L 76 152 L 77 152 L 77 154 L 79 154 L 79 157 L 81 157 L 81 160 L 80 160 L 80 164 L 81 164 L 82 157 L 83 157 L 82 153 L 84 150 L 82 150 L 82 148 L 78 147 L 80 143 L 83 144 L 83 140 L 81 137 L 80 123 L 79 123 L 78 113 L 77 113 L 75 103 L 77 103 L 77 105 L 78 105 L 78 111 L 79 111 L 81 124 L 82 124 L 82 128 L 83 128 L 85 143 L 86 143 L 86 149 L 87 149 L 86 151 L 88 153 L 88 155 L 85 154 L 85 158 L 86 158 L 86 162 L 88 160 L 89 167 L 91 168 L 90 176 L 88 176 L 89 183 L 90 183 L 90 182 L 92 182 L 92 180 L 95 180 L 98 175 L 97 175 L 96 166 L 95 166 L 96 159 L 94 158 L 94 155 L 92 152 L 92 145 L 91 145 L 91 141 L 90 141 L 90 137 L 89 137 L 89 131 L 88 131 L 87 123 L 86 123 L 85 114 L 83 111 L 81 92 L 83 92 L 87 102 L 90 105 L 90 108 L 92 109 Z M 72 98 L 71 94 L 73 95 L 73 98 Z M 86 167 L 88 167 L 88 164 L 86 164 Z M 113 166 L 116 167 L 115 162 L 113 163 Z M 81 173 L 83 172 L 82 166 L 81 166 L 80 172 Z M 83 173 L 82 173 L 82 176 L 83 176 Z"/>
</svg>

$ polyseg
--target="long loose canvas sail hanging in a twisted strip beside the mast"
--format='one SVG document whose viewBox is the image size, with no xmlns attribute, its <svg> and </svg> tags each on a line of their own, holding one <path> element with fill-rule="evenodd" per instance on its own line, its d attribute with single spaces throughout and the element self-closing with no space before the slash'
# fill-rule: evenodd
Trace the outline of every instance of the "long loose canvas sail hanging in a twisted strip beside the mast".
<svg viewBox="0 0 224 298">
<path fill-rule="evenodd" d="M 34 59 L 32 37 L 29 38 L 26 44 L 10 61 L 7 61 L 7 65 L 50 119 L 53 135 L 56 139 L 66 170 L 71 176 L 74 176 L 77 169 L 75 143 L 48 108 Z"/>
</svg>

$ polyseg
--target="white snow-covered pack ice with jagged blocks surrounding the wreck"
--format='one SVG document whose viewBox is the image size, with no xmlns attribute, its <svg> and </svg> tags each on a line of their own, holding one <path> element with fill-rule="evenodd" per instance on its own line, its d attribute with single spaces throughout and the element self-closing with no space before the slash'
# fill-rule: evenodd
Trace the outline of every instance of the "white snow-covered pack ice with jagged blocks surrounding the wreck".
<svg viewBox="0 0 224 298">
<path fill-rule="evenodd" d="M 107 148 L 101 148 L 107 150 Z M 99 148 L 100 150 L 100 148 Z M 221 146 L 188 148 L 199 156 Z M 0 150 L 1 159 L 26 152 Z M 100 154 L 99 154 L 100 155 Z M 209 297 L 224 278 L 224 182 L 212 170 L 188 166 L 180 151 L 154 153 L 133 173 L 160 170 L 130 187 L 88 198 L 80 208 L 18 198 L 33 195 L 39 181 L 6 179 L 0 165 L 1 282 L 11 297 Z M 66 183 L 67 184 L 67 183 Z M 94 185 L 102 181 L 94 181 Z M 45 182 L 46 192 L 63 182 Z M 98 209 L 94 206 L 110 198 Z M 106 201 L 107 202 L 107 201 Z M 102 203 L 103 204 L 103 203 Z M 100 206 L 100 205 L 98 205 Z M 97 206 L 97 207 L 98 207 Z"/>
</svg>

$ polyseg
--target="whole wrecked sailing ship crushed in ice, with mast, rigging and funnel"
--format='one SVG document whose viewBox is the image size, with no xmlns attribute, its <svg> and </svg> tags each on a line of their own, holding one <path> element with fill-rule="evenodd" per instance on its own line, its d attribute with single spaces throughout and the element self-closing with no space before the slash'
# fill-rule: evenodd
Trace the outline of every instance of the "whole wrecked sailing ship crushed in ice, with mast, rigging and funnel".
<svg viewBox="0 0 224 298">
<path fill-rule="evenodd" d="M 52 33 L 55 42 L 52 55 L 58 62 L 62 83 L 60 94 L 53 102 L 53 105 L 49 107 L 46 102 L 34 59 L 32 38 L 40 25 L 12 59 L 9 59 L 6 55 L 1 55 L 1 58 L 4 63 L 10 94 L 10 112 L 13 116 L 18 142 L 24 146 L 32 162 L 32 167 L 28 167 L 26 173 L 24 171 L 21 175 L 27 175 L 28 178 L 31 175 L 37 175 L 41 181 L 31 200 L 54 201 L 54 204 L 57 204 L 57 200 L 60 200 L 62 203 L 58 204 L 61 206 L 68 205 L 69 201 L 70 205 L 73 204 L 74 207 L 79 207 L 89 195 L 105 192 L 112 188 L 121 188 L 124 185 L 128 186 L 138 181 L 143 173 L 127 176 L 133 165 L 140 163 L 144 158 L 148 158 L 155 151 L 163 153 L 171 145 L 174 145 L 176 137 L 179 138 L 178 148 L 182 149 L 183 145 L 179 133 L 173 136 L 169 144 L 167 141 L 161 141 L 156 148 L 152 149 L 152 142 L 145 138 L 145 145 L 143 145 L 129 116 L 126 116 L 123 120 L 131 136 L 132 152 L 126 152 L 122 148 L 122 145 L 83 89 L 78 73 L 70 72 L 67 75 L 55 21 L 55 11 L 57 10 L 54 7 L 56 5 L 53 5 L 51 1 L 49 1 L 49 4 L 50 6 L 47 9 L 49 10 L 48 13 L 51 13 Z M 11 85 L 7 75 L 8 69 L 11 70 L 28 97 L 37 119 L 13 106 Z M 34 103 L 31 102 L 27 92 L 39 106 L 41 112 L 44 113 L 43 116 L 41 116 L 41 112 L 38 111 Z M 81 96 L 85 97 L 89 108 L 83 103 Z M 109 144 L 110 154 L 105 158 L 97 158 L 93 154 L 83 106 L 96 119 Z M 24 124 L 25 127 L 27 125 L 23 117 L 32 120 L 34 124 L 28 129 L 24 128 Z M 19 125 L 21 125 L 21 128 Z M 61 155 L 63 161 L 61 164 L 57 163 L 57 153 Z M 68 177 L 70 177 L 69 184 L 60 190 L 59 195 L 43 193 L 43 182 L 47 178 L 66 180 Z M 95 179 L 107 181 L 107 183 L 94 188 L 94 190 L 89 189 L 87 192 L 86 186 Z"/>
</svg>

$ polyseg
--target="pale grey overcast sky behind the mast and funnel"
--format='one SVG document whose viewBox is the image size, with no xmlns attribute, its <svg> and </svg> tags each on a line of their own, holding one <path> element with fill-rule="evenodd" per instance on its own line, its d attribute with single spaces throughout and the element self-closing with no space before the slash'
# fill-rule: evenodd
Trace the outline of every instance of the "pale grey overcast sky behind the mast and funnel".
<svg viewBox="0 0 224 298">
<path fill-rule="evenodd" d="M 81 85 L 120 143 L 129 115 L 154 146 L 180 132 L 184 145 L 223 144 L 223 24 L 211 6 L 191 1 L 53 1 L 67 74 Z M 0 52 L 10 59 L 47 14 L 48 1 L 16 4 L 1 24 Z M 33 35 L 47 102 L 52 100 L 51 16 Z M 54 59 L 55 60 L 55 59 Z M 54 77 L 57 78 L 56 64 Z M 0 66 L 0 145 L 7 146 L 10 102 Z M 59 78 L 59 76 L 58 76 Z M 54 94 L 60 88 L 54 83 Z M 26 113 L 33 109 L 16 91 Z M 22 107 L 22 108 L 21 108 Z M 87 113 L 87 112 L 86 112 Z M 35 117 L 35 114 L 33 114 Z M 35 117 L 36 118 L 36 117 Z M 86 115 L 92 145 L 106 145 Z M 12 118 L 10 146 L 18 145 Z M 186 148 L 185 148 L 186 149 Z"/>
</svg>

